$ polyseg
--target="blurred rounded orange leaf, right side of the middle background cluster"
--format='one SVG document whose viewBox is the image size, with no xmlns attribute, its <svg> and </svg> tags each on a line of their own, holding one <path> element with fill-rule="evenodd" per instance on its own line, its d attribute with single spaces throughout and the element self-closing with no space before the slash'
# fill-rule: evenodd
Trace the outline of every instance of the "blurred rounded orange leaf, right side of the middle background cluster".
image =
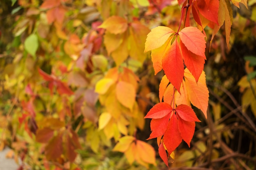
<svg viewBox="0 0 256 170">
<path fill-rule="evenodd" d="M 116 95 L 117 95 L 118 101 L 122 105 L 132 110 L 132 107 L 135 103 L 135 96 L 136 96 L 136 91 L 134 86 L 132 86 L 132 84 L 124 81 L 119 81 L 117 83 Z"/>
</svg>

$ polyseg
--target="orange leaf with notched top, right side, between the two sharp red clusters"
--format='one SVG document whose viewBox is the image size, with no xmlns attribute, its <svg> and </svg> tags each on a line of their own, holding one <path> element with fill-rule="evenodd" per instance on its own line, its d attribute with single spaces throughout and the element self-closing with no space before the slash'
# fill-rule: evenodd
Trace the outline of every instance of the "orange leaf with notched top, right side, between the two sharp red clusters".
<svg viewBox="0 0 256 170">
<path fill-rule="evenodd" d="M 198 82 L 195 82 L 193 75 L 187 68 L 185 69 L 184 77 L 190 102 L 202 110 L 204 116 L 207 118 L 209 91 L 206 86 L 204 71 L 200 75 Z"/>
</svg>

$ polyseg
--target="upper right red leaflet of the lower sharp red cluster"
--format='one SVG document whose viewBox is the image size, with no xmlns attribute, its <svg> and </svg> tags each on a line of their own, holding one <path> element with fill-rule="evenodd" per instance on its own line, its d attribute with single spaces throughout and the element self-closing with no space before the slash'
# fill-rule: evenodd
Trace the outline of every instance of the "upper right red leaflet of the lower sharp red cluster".
<svg viewBox="0 0 256 170">
<path fill-rule="evenodd" d="M 181 104 L 175 108 L 175 111 L 185 121 L 200 121 L 194 110 L 187 105 Z"/>
</svg>

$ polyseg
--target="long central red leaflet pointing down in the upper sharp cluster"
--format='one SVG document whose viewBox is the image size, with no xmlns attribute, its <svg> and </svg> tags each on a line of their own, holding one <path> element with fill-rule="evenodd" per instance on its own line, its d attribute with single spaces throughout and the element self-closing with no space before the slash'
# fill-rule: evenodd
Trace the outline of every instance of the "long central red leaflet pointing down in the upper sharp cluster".
<svg viewBox="0 0 256 170">
<path fill-rule="evenodd" d="M 180 53 L 180 45 L 177 43 L 177 39 L 165 53 L 162 63 L 164 73 L 171 84 L 173 84 L 180 93 L 180 85 L 184 74 L 184 64 Z"/>
</svg>

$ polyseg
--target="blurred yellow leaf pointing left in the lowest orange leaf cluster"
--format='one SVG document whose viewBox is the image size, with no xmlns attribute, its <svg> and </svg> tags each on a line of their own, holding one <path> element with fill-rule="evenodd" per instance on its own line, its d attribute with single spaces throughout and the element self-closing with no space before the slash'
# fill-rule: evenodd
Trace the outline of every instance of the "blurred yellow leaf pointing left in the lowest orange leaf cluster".
<svg viewBox="0 0 256 170">
<path fill-rule="evenodd" d="M 113 151 L 125 152 L 130 147 L 130 144 L 134 141 L 132 136 L 124 136 L 119 139 L 119 142 L 113 148 Z"/>
</svg>

